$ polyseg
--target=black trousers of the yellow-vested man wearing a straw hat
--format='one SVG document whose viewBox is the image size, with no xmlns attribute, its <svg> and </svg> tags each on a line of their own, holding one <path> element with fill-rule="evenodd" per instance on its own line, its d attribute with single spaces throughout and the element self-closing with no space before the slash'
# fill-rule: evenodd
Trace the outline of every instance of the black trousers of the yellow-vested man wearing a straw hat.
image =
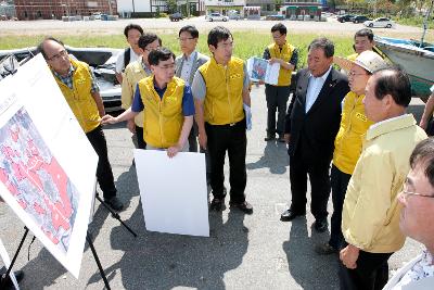
<svg viewBox="0 0 434 290">
<path fill-rule="evenodd" d="M 330 180 L 332 187 L 333 214 L 330 225 L 329 244 L 334 249 L 341 250 L 344 243 L 342 235 L 342 207 L 344 206 L 346 188 L 352 176 L 341 172 L 336 166 L 332 165 Z"/>
</svg>

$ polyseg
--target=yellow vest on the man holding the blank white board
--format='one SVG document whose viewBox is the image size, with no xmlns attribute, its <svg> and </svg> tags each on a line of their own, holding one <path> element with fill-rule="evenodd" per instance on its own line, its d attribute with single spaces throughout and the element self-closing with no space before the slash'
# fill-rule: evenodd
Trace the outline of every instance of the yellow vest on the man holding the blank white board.
<svg viewBox="0 0 434 290">
<path fill-rule="evenodd" d="M 186 83 L 174 77 L 168 84 L 163 99 L 154 88 L 154 76 L 139 81 L 139 91 L 144 105 L 143 139 L 156 148 L 176 144 L 181 135 L 183 114 L 182 98 Z"/>
</svg>

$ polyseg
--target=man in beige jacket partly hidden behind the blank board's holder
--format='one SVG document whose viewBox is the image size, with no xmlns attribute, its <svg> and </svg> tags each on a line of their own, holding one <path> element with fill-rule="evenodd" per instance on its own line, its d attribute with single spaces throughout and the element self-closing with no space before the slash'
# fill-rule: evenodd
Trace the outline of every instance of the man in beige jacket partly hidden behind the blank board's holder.
<svg viewBox="0 0 434 290">
<path fill-rule="evenodd" d="M 152 74 L 148 61 L 149 53 L 162 46 L 159 37 L 152 33 L 145 33 L 139 38 L 139 48 L 142 55 L 136 62 L 130 63 L 124 73 L 122 85 L 122 106 L 127 110 L 132 104 L 137 83 Z M 133 119 L 128 119 L 128 129 L 133 134 L 132 140 L 137 148 L 146 149 L 146 142 L 143 139 L 143 113 L 138 114 Z"/>
</svg>

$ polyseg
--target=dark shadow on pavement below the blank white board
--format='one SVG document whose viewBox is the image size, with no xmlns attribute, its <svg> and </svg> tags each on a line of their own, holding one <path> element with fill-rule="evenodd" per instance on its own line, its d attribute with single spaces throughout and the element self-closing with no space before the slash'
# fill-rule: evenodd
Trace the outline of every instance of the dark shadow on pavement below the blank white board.
<svg viewBox="0 0 434 290">
<path fill-rule="evenodd" d="M 126 220 L 136 229 L 136 239 L 122 226 L 113 228 L 112 249 L 124 255 L 106 266 L 105 274 L 110 280 L 120 272 L 124 289 L 226 289 L 225 273 L 240 266 L 247 251 L 243 220 L 244 214 L 237 210 L 229 212 L 226 223 L 221 212 L 210 212 L 209 238 L 153 232 L 145 230 L 140 204 Z M 100 280 L 95 273 L 88 285 Z"/>
</svg>

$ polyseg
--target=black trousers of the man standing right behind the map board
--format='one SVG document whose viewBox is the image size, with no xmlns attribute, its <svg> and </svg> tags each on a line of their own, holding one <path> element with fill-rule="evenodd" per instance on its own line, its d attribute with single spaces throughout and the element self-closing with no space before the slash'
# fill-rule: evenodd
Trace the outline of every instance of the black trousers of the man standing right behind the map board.
<svg viewBox="0 0 434 290">
<path fill-rule="evenodd" d="M 86 134 L 93 150 L 98 154 L 97 180 L 100 184 L 104 199 L 116 196 L 115 180 L 112 165 L 108 162 L 107 143 L 101 126 Z"/>
</svg>

